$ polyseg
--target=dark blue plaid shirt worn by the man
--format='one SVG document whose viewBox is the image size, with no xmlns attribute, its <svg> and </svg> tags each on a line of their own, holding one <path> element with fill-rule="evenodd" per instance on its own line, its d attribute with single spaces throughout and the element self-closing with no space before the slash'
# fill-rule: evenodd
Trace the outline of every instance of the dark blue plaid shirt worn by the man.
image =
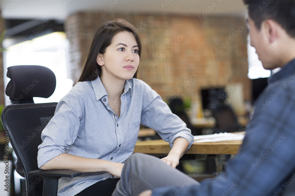
<svg viewBox="0 0 295 196">
<path fill-rule="evenodd" d="M 294 186 L 294 171 L 295 59 L 270 78 L 256 102 L 240 152 L 224 174 L 199 186 L 156 188 L 153 196 L 280 195 Z"/>
</svg>

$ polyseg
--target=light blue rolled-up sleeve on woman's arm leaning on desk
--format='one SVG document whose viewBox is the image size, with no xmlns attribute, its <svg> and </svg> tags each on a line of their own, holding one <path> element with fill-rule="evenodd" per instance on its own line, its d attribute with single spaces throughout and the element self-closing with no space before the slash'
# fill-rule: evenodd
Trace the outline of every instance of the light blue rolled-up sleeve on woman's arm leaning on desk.
<svg viewBox="0 0 295 196">
<path fill-rule="evenodd" d="M 188 140 L 190 148 L 194 142 L 191 130 L 186 127 L 183 120 L 171 112 L 158 93 L 144 82 L 142 86 L 141 124 L 156 130 L 163 140 L 169 142 L 171 148 L 174 140 L 179 137 Z"/>
</svg>

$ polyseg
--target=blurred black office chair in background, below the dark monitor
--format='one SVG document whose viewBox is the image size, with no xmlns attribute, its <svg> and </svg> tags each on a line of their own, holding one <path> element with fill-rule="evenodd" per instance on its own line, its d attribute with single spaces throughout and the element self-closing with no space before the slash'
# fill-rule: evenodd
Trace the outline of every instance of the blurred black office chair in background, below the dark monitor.
<svg viewBox="0 0 295 196">
<path fill-rule="evenodd" d="M 234 111 L 229 105 L 218 105 L 214 108 L 212 114 L 216 119 L 214 133 L 237 132 L 241 128 Z"/>
</svg>

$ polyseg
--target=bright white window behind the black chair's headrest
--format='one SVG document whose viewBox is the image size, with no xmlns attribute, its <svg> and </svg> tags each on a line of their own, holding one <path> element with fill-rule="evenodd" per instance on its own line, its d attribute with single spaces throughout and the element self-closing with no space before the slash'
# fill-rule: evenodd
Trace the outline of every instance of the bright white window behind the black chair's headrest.
<svg viewBox="0 0 295 196">
<path fill-rule="evenodd" d="M 3 46 L 6 51 L 4 57 L 4 85 L 7 86 L 9 78 L 6 77 L 7 67 L 15 65 L 40 65 L 50 68 L 56 77 L 56 88 L 49 98 L 34 98 L 35 103 L 58 102 L 72 86 L 73 80 L 68 78 L 66 51 L 69 41 L 64 32 L 50 33 L 29 41 L 12 45 L 14 39 L 5 39 Z M 5 95 L 5 105 L 12 102 Z"/>
</svg>

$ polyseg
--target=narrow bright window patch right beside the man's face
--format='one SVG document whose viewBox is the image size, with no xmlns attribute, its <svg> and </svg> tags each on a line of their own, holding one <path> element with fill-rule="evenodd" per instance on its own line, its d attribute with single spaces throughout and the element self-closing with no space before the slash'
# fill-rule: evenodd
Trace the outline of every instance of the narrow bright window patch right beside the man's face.
<svg viewBox="0 0 295 196">
<path fill-rule="evenodd" d="M 271 71 L 263 68 L 261 61 L 258 59 L 258 55 L 255 53 L 255 48 L 250 46 L 250 36 L 248 36 L 248 63 L 249 71 L 248 78 L 268 78 L 271 76 Z"/>
</svg>

